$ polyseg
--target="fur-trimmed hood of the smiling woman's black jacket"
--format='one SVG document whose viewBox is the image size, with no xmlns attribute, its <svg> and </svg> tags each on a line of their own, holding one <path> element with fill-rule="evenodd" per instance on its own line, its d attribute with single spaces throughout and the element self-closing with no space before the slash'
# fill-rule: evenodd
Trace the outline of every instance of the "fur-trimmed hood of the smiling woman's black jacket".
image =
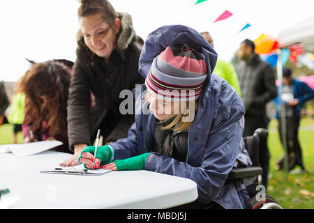
<svg viewBox="0 0 314 223">
<path fill-rule="evenodd" d="M 117 52 L 124 58 L 124 50 L 128 45 L 136 40 L 136 33 L 133 29 L 132 17 L 128 13 L 117 13 L 121 20 L 121 30 L 117 38 Z M 82 48 L 88 48 L 84 43 L 82 31 L 77 31 L 77 45 Z"/>
</svg>

